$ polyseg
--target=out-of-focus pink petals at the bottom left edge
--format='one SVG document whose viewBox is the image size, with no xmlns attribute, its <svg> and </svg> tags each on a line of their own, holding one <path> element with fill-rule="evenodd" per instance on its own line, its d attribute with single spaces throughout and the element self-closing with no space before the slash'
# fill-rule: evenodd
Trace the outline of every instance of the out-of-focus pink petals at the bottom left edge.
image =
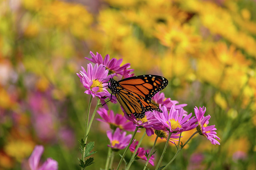
<svg viewBox="0 0 256 170">
<path fill-rule="evenodd" d="M 28 159 L 28 164 L 31 170 L 57 170 L 58 169 L 58 162 L 47 158 L 47 160 L 43 163 L 42 166 L 38 167 L 40 162 L 40 158 L 42 153 L 44 152 L 44 146 L 37 145 L 35 146 L 31 156 Z"/>
</svg>

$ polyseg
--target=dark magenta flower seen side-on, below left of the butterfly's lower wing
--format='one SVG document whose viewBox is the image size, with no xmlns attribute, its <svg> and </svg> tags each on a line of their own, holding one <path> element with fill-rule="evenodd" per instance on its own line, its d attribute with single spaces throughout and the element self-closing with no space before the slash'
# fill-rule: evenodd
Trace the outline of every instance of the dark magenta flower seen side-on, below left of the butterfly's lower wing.
<svg viewBox="0 0 256 170">
<path fill-rule="evenodd" d="M 102 119 L 97 118 L 96 120 L 108 123 L 110 128 L 113 130 L 119 128 L 121 130 L 134 131 L 136 128 L 133 126 L 132 122 L 127 121 L 127 119 L 121 114 L 115 115 L 112 110 L 109 112 L 109 115 L 108 111 L 104 108 L 99 108 L 97 112 Z"/>
</svg>

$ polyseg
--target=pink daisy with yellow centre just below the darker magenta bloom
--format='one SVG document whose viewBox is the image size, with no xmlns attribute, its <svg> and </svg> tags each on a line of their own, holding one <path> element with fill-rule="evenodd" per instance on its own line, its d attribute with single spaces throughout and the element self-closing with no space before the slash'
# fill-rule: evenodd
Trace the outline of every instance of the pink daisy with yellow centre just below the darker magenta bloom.
<svg viewBox="0 0 256 170">
<path fill-rule="evenodd" d="M 112 133 L 112 131 L 107 131 L 108 139 L 110 140 L 110 145 L 108 147 L 111 147 L 113 149 L 124 149 L 126 146 L 128 146 L 132 135 L 129 134 L 127 136 L 126 132 L 122 132 L 119 128 L 115 129 L 115 132 Z"/>
</svg>

